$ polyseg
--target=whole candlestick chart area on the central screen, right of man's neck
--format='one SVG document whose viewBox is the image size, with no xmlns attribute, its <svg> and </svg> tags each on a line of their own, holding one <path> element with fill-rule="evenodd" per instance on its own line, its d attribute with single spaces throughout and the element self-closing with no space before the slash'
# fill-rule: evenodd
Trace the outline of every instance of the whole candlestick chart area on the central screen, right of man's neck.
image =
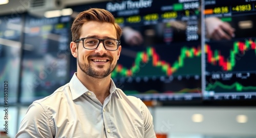
<svg viewBox="0 0 256 138">
<path fill-rule="evenodd" d="M 147 97 L 150 97 L 149 94 L 163 93 L 200 95 L 200 45 L 149 46 L 144 50 L 140 48 L 133 51 L 134 57 L 127 58 L 128 56 L 121 55 L 112 72 L 112 78 L 117 82 L 117 87 L 122 88 L 126 94 L 136 94 L 136 96 L 146 94 Z M 158 96 L 152 95 L 152 97 Z M 145 96 L 140 98 L 143 99 Z"/>
</svg>

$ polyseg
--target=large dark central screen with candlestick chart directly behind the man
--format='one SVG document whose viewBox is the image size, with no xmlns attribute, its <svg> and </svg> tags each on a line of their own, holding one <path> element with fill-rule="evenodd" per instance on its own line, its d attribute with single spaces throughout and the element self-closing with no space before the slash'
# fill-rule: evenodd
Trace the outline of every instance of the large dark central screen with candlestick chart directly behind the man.
<svg viewBox="0 0 256 138">
<path fill-rule="evenodd" d="M 142 100 L 201 100 L 200 1 L 109 1 L 104 8 L 123 30 L 112 73 L 118 88 Z"/>
</svg>

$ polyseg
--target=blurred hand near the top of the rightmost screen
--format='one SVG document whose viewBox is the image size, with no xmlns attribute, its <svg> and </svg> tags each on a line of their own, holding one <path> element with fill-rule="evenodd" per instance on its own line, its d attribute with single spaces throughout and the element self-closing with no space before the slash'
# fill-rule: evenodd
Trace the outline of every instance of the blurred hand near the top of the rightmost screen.
<svg viewBox="0 0 256 138">
<path fill-rule="evenodd" d="M 235 29 L 228 22 L 223 22 L 217 17 L 205 19 L 207 37 L 214 40 L 230 40 L 234 37 Z"/>
</svg>

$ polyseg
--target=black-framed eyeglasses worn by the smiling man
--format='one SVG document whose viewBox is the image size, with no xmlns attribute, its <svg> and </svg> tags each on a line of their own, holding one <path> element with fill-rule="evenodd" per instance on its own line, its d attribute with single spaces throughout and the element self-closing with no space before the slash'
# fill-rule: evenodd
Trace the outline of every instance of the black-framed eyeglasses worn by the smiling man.
<svg viewBox="0 0 256 138">
<path fill-rule="evenodd" d="M 74 42 L 82 41 L 83 48 L 86 49 L 96 49 L 99 43 L 102 41 L 103 46 L 106 50 L 115 51 L 120 45 L 120 41 L 116 39 L 98 39 L 98 38 L 81 38 Z"/>
</svg>

